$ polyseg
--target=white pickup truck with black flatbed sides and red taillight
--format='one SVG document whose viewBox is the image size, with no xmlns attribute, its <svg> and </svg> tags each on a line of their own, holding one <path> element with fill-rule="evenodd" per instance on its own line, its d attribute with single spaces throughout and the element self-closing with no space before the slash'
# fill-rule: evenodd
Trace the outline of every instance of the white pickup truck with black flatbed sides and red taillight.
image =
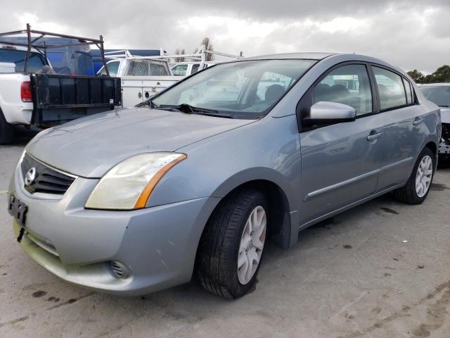
<svg viewBox="0 0 450 338">
<path fill-rule="evenodd" d="M 118 79 L 58 75 L 37 49 L 0 43 L 0 144 L 13 125 L 51 127 L 120 104 Z"/>
</svg>

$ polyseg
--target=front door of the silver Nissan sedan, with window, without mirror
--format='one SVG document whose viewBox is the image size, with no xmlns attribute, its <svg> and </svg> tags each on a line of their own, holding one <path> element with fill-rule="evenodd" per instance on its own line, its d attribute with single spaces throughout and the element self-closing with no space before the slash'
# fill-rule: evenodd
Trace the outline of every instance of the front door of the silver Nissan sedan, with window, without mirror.
<svg viewBox="0 0 450 338">
<path fill-rule="evenodd" d="M 375 192 L 382 151 L 378 134 L 383 120 L 374 113 L 376 101 L 367 67 L 365 63 L 348 63 L 332 68 L 300 101 L 301 118 L 318 101 L 356 109 L 353 122 L 302 127 L 302 223 Z"/>
</svg>

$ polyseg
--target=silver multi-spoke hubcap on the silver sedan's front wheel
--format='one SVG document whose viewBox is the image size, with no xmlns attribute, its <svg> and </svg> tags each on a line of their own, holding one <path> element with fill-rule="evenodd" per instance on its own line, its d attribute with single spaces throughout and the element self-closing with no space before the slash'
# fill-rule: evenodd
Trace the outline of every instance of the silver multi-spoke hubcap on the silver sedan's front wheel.
<svg viewBox="0 0 450 338">
<path fill-rule="evenodd" d="M 240 284 L 247 284 L 255 275 L 266 240 L 266 225 L 266 211 L 262 206 L 257 206 L 248 216 L 244 232 L 240 238 L 238 253 L 238 280 Z"/>
</svg>

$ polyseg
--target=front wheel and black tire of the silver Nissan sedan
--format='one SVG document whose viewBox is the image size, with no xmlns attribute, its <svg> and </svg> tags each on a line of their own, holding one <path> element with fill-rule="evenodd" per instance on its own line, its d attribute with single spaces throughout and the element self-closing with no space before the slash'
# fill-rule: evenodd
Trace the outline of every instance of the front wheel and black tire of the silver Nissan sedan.
<svg viewBox="0 0 450 338">
<path fill-rule="evenodd" d="M 195 268 L 200 284 L 207 291 L 227 299 L 237 299 L 252 291 L 257 282 L 264 252 L 269 224 L 268 211 L 269 204 L 266 197 L 256 189 L 233 193 L 217 206 L 200 239 Z M 256 215 L 258 220 L 261 219 L 260 223 L 265 224 L 264 232 L 262 225 L 255 226 L 255 232 L 251 232 L 253 237 L 257 237 L 261 231 L 258 237 L 260 242 L 249 237 L 250 225 L 247 224 L 250 215 L 252 217 Z M 247 240 L 250 242 L 244 245 Z M 260 249 L 257 249 L 258 246 Z M 239 261 L 242 264 L 247 257 L 255 258 L 255 255 L 259 256 L 258 260 L 249 259 L 257 264 L 256 267 L 250 265 L 247 260 L 238 268 L 238 257 L 242 258 Z M 252 269 L 245 270 L 245 266 Z"/>
</svg>

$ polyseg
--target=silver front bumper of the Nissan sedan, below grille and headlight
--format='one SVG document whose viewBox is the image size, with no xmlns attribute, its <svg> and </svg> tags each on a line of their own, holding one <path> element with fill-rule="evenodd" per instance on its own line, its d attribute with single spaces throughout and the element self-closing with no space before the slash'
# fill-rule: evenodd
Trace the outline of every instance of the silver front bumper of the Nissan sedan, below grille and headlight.
<svg viewBox="0 0 450 338">
<path fill-rule="evenodd" d="M 98 180 L 78 177 L 62 198 L 37 198 L 23 189 L 18 168 L 9 192 L 28 206 L 20 245 L 46 270 L 73 284 L 129 296 L 191 280 L 203 227 L 219 199 L 137 211 L 87 210 L 84 204 Z M 13 228 L 17 235 L 15 221 Z M 129 277 L 115 277 L 110 261 L 125 265 Z"/>
</svg>

